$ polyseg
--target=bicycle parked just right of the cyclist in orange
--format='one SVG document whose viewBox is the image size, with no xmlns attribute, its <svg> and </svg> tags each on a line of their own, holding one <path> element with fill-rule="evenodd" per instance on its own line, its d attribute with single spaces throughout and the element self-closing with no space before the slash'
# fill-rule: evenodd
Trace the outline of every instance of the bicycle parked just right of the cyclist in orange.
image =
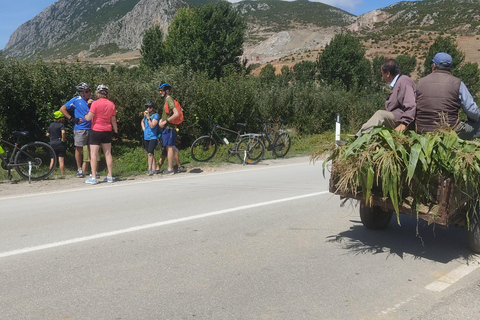
<svg viewBox="0 0 480 320">
<path fill-rule="evenodd" d="M 219 126 L 210 116 L 208 116 L 208 120 L 212 123 L 210 133 L 197 138 L 190 147 L 190 155 L 193 160 L 205 162 L 212 159 L 217 153 L 219 144 L 223 144 L 227 147 L 227 160 L 232 155 L 237 155 L 240 161 L 245 165 L 256 164 L 263 159 L 265 155 L 265 145 L 260 139 L 260 134 L 240 134 L 240 131 L 237 132 Z M 240 126 L 246 126 L 245 123 L 237 124 Z M 235 135 L 235 142 L 230 144 L 227 138 L 222 138 L 218 134 L 217 129 Z"/>
</svg>

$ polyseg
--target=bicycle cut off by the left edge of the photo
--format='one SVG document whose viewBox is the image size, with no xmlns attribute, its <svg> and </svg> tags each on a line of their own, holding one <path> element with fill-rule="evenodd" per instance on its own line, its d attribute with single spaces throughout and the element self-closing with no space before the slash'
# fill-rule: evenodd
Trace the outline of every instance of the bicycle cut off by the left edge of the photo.
<svg viewBox="0 0 480 320">
<path fill-rule="evenodd" d="M 9 180 L 12 180 L 12 169 L 28 181 L 45 179 L 55 170 L 57 157 L 50 145 L 40 141 L 20 145 L 20 138 L 28 134 L 28 131 L 13 131 L 13 135 L 16 136 L 15 143 L 0 138 L 3 146 L 8 145 L 13 149 L 9 154 L 0 147 L 1 166 L 8 171 Z M 52 158 L 53 165 L 50 166 Z"/>
</svg>

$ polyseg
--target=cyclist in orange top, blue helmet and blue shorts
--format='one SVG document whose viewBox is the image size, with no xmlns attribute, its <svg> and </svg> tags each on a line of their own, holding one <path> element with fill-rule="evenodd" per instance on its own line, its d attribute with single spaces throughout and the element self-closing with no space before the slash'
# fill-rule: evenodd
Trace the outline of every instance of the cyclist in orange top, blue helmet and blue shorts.
<svg viewBox="0 0 480 320">
<path fill-rule="evenodd" d="M 170 96 L 170 90 L 172 87 L 166 82 L 162 82 L 158 86 L 158 90 L 162 98 L 165 99 L 165 104 L 168 104 L 169 113 L 165 112 L 163 108 L 162 120 L 160 120 L 160 127 L 163 128 L 162 131 L 162 142 L 163 146 L 167 148 L 167 159 L 168 159 L 168 168 L 163 171 L 163 174 L 174 174 L 175 170 L 173 169 L 173 164 L 175 163 L 175 143 L 177 137 L 177 131 L 175 130 L 175 125 L 170 123 L 170 121 L 176 119 L 179 114 L 177 108 L 175 108 L 175 101 Z"/>
</svg>

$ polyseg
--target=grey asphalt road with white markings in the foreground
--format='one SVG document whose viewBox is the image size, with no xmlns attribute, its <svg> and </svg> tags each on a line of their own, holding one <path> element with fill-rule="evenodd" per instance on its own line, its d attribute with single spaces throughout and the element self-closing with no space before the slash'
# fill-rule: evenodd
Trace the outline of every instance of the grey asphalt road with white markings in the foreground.
<svg viewBox="0 0 480 320">
<path fill-rule="evenodd" d="M 465 230 L 367 230 L 307 158 L 0 200 L 0 319 L 480 315 Z"/>
</svg>

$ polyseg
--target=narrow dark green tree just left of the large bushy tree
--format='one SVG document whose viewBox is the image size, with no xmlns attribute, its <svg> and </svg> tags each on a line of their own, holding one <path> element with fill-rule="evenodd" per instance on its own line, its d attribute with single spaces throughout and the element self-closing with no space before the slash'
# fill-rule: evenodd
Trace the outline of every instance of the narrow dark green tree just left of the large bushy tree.
<svg viewBox="0 0 480 320">
<path fill-rule="evenodd" d="M 145 30 L 140 48 L 140 54 L 142 55 L 140 64 L 153 70 L 158 69 L 165 63 L 164 51 L 163 35 L 160 27 L 154 25 Z"/>
</svg>

